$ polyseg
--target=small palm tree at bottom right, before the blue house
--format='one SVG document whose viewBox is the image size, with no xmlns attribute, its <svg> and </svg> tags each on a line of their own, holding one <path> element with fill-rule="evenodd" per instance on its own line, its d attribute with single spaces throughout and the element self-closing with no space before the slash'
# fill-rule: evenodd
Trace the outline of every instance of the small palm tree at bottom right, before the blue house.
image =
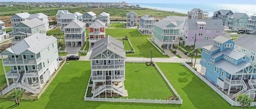
<svg viewBox="0 0 256 109">
<path fill-rule="evenodd" d="M 239 94 L 236 97 L 236 100 L 240 102 L 241 108 L 243 109 L 245 106 L 248 107 L 252 104 L 253 99 L 249 98 L 247 94 Z"/>
</svg>

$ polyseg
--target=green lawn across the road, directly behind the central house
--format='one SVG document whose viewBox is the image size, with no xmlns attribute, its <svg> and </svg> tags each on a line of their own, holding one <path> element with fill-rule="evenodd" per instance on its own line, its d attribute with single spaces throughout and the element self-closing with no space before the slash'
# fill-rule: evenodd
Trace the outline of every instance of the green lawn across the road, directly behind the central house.
<svg viewBox="0 0 256 109">
<path fill-rule="evenodd" d="M 124 37 L 128 36 L 130 42 L 133 44 L 135 53 L 126 54 L 130 57 L 150 57 L 150 48 L 153 48 L 152 57 L 168 57 L 167 55 L 162 55 L 150 42 L 147 41 L 147 37 L 151 35 L 142 35 L 136 29 L 106 29 L 106 34 L 112 37 Z M 140 55 L 140 53 L 142 53 Z"/>
</svg>

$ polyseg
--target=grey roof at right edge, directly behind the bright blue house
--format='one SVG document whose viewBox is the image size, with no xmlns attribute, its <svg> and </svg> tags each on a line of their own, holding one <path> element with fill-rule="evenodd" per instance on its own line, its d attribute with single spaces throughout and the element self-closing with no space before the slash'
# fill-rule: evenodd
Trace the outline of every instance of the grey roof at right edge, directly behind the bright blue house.
<svg viewBox="0 0 256 109">
<path fill-rule="evenodd" d="M 256 36 L 245 34 L 234 42 L 237 46 L 256 52 Z"/>
</svg>

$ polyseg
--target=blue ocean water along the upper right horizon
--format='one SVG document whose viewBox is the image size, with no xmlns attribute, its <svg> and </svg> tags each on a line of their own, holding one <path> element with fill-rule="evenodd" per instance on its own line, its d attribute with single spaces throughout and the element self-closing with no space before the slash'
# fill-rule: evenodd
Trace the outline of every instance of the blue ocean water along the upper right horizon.
<svg viewBox="0 0 256 109">
<path fill-rule="evenodd" d="M 228 9 L 233 12 L 243 12 L 251 16 L 256 14 L 256 4 L 160 4 L 160 3 L 132 3 L 139 4 L 142 8 L 150 8 L 164 11 L 175 11 L 187 14 L 193 8 L 200 8 L 209 12 L 209 16 L 213 15 L 214 11 L 220 9 Z"/>
</svg>

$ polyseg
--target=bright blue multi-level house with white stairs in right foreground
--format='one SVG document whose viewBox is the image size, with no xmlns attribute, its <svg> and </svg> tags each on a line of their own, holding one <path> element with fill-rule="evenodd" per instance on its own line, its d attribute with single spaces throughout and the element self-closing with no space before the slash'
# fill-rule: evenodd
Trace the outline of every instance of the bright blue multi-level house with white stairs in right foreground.
<svg viewBox="0 0 256 109">
<path fill-rule="evenodd" d="M 254 99 L 256 68 L 249 58 L 236 52 L 235 43 L 227 37 L 218 36 L 213 41 L 213 45 L 203 47 L 201 74 L 232 99 L 242 93 Z"/>
</svg>

